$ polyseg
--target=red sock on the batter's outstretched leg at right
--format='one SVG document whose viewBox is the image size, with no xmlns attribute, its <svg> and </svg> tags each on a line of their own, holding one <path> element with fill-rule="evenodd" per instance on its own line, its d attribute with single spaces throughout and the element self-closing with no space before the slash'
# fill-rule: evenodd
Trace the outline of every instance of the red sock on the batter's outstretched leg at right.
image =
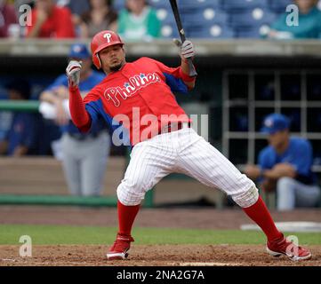
<svg viewBox="0 0 321 284">
<path fill-rule="evenodd" d="M 274 224 L 264 201 L 262 201 L 261 196 L 259 196 L 259 200 L 256 201 L 256 203 L 248 208 L 243 208 L 243 210 L 248 217 L 261 227 L 269 241 L 277 240 L 282 236 L 282 233 L 277 230 L 277 227 Z"/>
</svg>

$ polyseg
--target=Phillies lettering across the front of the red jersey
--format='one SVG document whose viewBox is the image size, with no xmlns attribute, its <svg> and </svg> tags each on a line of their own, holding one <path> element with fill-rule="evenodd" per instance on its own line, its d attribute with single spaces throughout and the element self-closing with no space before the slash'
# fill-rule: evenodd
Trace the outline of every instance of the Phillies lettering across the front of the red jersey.
<svg viewBox="0 0 321 284">
<path fill-rule="evenodd" d="M 129 82 L 124 83 L 124 87 L 112 87 L 104 91 L 104 97 L 111 100 L 115 106 L 120 106 L 120 99 L 128 99 L 136 94 L 142 88 L 147 87 L 151 83 L 161 82 L 156 73 L 133 75 L 129 78 Z"/>
</svg>

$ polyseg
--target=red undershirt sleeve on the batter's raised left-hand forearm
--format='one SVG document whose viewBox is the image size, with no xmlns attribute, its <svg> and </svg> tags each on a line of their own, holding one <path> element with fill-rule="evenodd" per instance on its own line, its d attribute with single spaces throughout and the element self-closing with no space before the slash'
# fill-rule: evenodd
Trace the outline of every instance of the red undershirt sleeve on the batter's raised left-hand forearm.
<svg viewBox="0 0 321 284">
<path fill-rule="evenodd" d="M 78 87 L 69 87 L 69 109 L 71 120 L 76 127 L 82 132 L 90 130 L 92 118 L 85 110 L 84 100 L 80 95 Z"/>
</svg>

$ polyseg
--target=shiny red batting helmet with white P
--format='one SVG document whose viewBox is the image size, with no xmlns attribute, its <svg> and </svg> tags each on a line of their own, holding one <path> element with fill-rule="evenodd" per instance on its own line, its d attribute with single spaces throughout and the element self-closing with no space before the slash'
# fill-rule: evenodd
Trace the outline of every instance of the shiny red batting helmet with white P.
<svg viewBox="0 0 321 284">
<path fill-rule="evenodd" d="M 114 33 L 111 30 L 103 30 L 97 35 L 93 36 L 91 49 L 92 49 L 92 62 L 97 69 L 101 68 L 101 61 L 99 52 L 105 49 L 108 46 L 121 44 L 124 45 L 120 36 Z"/>
</svg>

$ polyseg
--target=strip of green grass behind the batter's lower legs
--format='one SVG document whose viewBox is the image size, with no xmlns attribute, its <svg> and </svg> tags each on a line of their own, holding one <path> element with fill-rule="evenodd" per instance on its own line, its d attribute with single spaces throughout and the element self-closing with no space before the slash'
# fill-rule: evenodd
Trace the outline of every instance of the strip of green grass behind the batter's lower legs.
<svg viewBox="0 0 321 284">
<path fill-rule="evenodd" d="M 70 225 L 0 225 L 0 245 L 19 245 L 21 235 L 29 235 L 33 244 L 110 244 L 116 228 Z M 294 234 L 302 244 L 321 244 L 320 233 Z M 261 232 L 237 230 L 191 230 L 135 228 L 135 244 L 262 244 Z"/>
</svg>

